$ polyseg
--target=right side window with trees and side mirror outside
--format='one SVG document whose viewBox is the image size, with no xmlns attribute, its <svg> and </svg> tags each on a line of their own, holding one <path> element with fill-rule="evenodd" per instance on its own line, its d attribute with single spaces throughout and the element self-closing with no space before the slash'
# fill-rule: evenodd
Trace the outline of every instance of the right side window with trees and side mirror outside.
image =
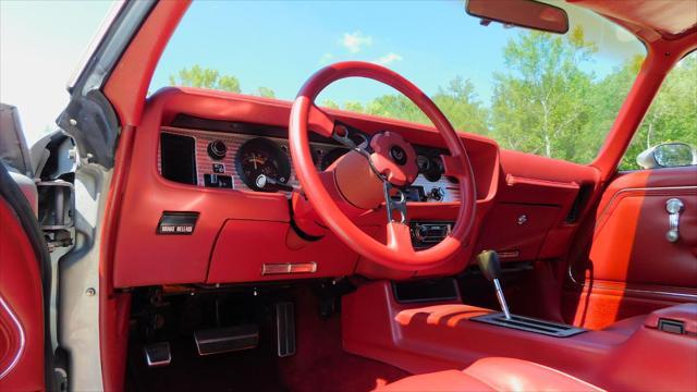
<svg viewBox="0 0 697 392">
<path fill-rule="evenodd" d="M 697 52 L 671 71 L 637 130 L 620 170 L 697 164 Z"/>
</svg>

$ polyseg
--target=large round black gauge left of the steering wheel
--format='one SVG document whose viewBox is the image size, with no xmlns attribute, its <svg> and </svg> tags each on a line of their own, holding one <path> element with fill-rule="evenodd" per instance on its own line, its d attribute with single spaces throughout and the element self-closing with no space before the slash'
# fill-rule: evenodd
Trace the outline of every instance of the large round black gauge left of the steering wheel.
<svg viewBox="0 0 697 392">
<path fill-rule="evenodd" d="M 235 158 L 240 180 L 254 191 L 273 192 L 273 188 L 257 186 L 260 174 L 286 184 L 291 177 L 291 161 L 279 146 L 264 137 L 253 138 L 243 144 Z"/>
</svg>

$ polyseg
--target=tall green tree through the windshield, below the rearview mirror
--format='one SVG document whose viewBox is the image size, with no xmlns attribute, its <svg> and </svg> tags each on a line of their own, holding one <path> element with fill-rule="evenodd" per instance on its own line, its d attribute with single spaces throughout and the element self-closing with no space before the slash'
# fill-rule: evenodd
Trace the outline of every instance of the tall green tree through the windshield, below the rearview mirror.
<svg viewBox="0 0 697 392">
<path fill-rule="evenodd" d="M 492 134 L 506 148 L 582 161 L 597 49 L 580 26 L 563 36 L 524 32 L 504 48 L 509 71 L 494 73 Z M 591 132 L 597 132 L 591 130 Z"/>
</svg>

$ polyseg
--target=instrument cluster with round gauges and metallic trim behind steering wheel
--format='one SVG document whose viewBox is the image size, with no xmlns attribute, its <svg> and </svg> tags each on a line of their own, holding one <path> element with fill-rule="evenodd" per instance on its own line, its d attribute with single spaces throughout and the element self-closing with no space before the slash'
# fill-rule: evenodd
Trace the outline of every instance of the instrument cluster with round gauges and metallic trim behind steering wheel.
<svg viewBox="0 0 697 392">
<path fill-rule="evenodd" d="M 187 154 L 186 151 L 191 151 Z M 343 146 L 310 143 L 318 171 L 348 151 Z M 405 191 L 409 201 L 456 203 L 457 184 L 445 177 L 441 150 L 416 146 L 419 175 Z M 158 171 L 168 180 L 196 186 L 290 193 L 299 186 L 281 137 L 164 126 Z"/>
</svg>

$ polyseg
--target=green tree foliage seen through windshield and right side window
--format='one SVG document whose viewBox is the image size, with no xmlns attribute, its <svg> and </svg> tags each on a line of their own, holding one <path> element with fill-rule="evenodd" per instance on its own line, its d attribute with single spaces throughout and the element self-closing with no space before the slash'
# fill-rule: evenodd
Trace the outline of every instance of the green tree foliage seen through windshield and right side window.
<svg viewBox="0 0 697 392">
<path fill-rule="evenodd" d="M 488 135 L 504 148 L 587 163 L 598 154 L 644 61 L 637 56 L 599 78 L 587 71 L 596 51 L 580 27 L 563 36 L 521 32 L 503 49 L 506 72 L 493 74 L 490 106 L 478 99 L 469 79 L 460 76 L 431 98 L 456 130 Z M 181 70 L 170 76 L 170 83 L 241 90 L 236 77 L 199 65 Z M 268 87 L 253 94 L 276 97 Z M 341 105 L 327 99 L 320 105 L 430 124 L 411 100 L 399 94 Z M 638 169 L 636 156 L 664 142 L 697 146 L 696 54 L 669 74 L 620 169 Z"/>
</svg>

